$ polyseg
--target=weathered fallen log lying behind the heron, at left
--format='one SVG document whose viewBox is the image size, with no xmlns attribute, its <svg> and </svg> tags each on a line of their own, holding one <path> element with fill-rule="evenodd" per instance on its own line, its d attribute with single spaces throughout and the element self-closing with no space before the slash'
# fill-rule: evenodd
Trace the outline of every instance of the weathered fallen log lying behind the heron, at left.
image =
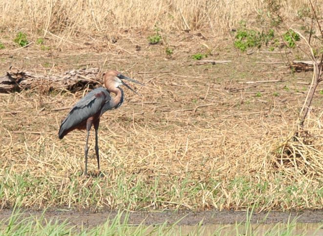
<svg viewBox="0 0 323 236">
<path fill-rule="evenodd" d="M 0 76 L 0 92 L 19 91 L 34 87 L 42 87 L 43 90 L 67 89 L 77 90 L 87 85 L 97 86 L 98 68 L 84 68 L 66 71 L 64 74 L 36 75 L 28 71 L 9 69 L 6 75 Z"/>
</svg>

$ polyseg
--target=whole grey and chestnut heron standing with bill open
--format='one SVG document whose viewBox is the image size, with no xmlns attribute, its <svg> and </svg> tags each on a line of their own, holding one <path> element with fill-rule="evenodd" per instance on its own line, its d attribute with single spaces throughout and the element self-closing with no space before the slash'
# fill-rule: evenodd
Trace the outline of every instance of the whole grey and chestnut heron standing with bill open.
<svg viewBox="0 0 323 236">
<path fill-rule="evenodd" d="M 87 142 L 89 131 L 92 125 L 95 129 L 95 153 L 98 162 L 98 169 L 100 171 L 98 147 L 98 129 L 100 124 L 100 117 L 107 110 L 118 108 L 123 103 L 124 93 L 123 90 L 119 87 L 120 85 L 125 85 L 129 89 L 131 89 L 120 79 L 125 79 L 140 84 L 138 81 L 123 76 L 118 71 L 108 71 L 104 74 L 104 83 L 107 89 L 99 87 L 86 94 L 84 98 L 78 101 L 74 107 L 72 107 L 61 124 L 58 133 L 60 139 L 63 139 L 66 134 L 73 131 L 74 129 L 86 129 L 87 131 L 85 145 L 85 174 L 87 174 Z M 110 95 L 111 92 L 115 94 L 114 97 Z"/>
</svg>

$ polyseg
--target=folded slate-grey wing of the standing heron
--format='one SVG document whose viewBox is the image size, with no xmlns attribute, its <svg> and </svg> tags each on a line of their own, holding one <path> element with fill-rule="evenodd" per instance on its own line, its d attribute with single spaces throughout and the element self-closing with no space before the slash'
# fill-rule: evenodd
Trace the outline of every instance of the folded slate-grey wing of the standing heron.
<svg viewBox="0 0 323 236">
<path fill-rule="evenodd" d="M 76 127 L 82 121 L 101 111 L 104 104 L 109 100 L 110 95 L 104 88 L 96 88 L 86 94 L 86 96 L 78 101 L 69 111 L 61 124 L 59 136 L 64 136 L 66 130 Z"/>
</svg>

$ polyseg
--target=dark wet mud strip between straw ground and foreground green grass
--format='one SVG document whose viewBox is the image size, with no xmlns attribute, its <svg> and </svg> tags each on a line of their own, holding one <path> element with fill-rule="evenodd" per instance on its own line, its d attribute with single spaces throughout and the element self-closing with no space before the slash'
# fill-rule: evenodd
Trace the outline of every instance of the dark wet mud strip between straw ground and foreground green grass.
<svg viewBox="0 0 323 236">
<path fill-rule="evenodd" d="M 12 210 L 2 210 L 0 220 L 7 219 L 12 214 Z M 42 211 L 24 211 L 23 217 L 30 215 L 41 216 Z M 52 219 L 63 222 L 67 220 L 71 225 L 84 225 L 93 227 L 106 222 L 108 218 L 112 219 L 117 215 L 115 211 L 103 211 L 98 213 L 78 212 L 74 210 L 50 210 L 45 214 L 47 220 Z M 236 222 L 245 222 L 247 213 L 245 211 L 206 211 L 206 212 L 130 212 L 129 224 L 140 224 L 144 221 L 146 225 L 159 224 L 167 221 L 173 224 L 183 218 L 178 225 L 195 225 L 203 220 L 204 225 L 211 224 L 234 224 Z M 297 218 L 298 223 L 323 223 L 323 210 L 305 210 L 299 212 L 270 212 L 253 214 L 251 223 L 273 224 L 287 222 Z"/>
</svg>

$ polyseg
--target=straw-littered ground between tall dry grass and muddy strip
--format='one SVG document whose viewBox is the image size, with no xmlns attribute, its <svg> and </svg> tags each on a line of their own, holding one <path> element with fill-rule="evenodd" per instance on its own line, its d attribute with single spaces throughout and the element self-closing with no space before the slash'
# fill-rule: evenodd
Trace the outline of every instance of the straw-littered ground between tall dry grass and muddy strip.
<svg viewBox="0 0 323 236">
<path fill-rule="evenodd" d="M 308 135 L 291 140 L 312 72 L 293 73 L 284 53 L 268 53 L 266 47 L 242 53 L 229 34 L 165 30 L 162 43 L 150 45 L 153 33 L 130 28 L 113 39 L 63 35 L 64 40 L 46 34 L 45 50 L 12 43 L 0 51 L 1 75 L 10 65 L 39 75 L 99 67 L 146 85 L 137 86 L 142 96 L 124 88 L 123 106 L 101 119 L 104 177 L 94 176 L 91 132 L 89 178 L 82 175 L 85 132 L 63 140 L 57 133 L 68 112 L 59 108 L 73 106 L 91 88 L 47 91 L 41 85 L 0 94 L 0 207 L 19 202 L 34 209 L 322 209 L 322 85 L 305 122 Z M 2 41 L 13 35 L 2 31 Z M 31 34 L 30 41 L 37 37 Z M 208 60 L 231 62 L 196 64 L 192 55 L 206 51 Z M 298 49 L 289 51 L 292 60 L 306 58 Z M 245 83 L 266 80 L 281 81 Z"/>
</svg>

